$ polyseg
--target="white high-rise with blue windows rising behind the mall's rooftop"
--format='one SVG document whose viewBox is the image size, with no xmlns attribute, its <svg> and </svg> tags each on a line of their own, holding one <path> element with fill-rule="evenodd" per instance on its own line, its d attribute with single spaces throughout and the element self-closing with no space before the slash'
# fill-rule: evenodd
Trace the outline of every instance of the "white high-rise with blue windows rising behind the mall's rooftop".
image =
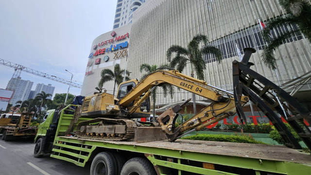
<svg viewBox="0 0 311 175">
<path fill-rule="evenodd" d="M 113 29 L 132 23 L 133 12 L 146 0 L 118 0 Z"/>
</svg>

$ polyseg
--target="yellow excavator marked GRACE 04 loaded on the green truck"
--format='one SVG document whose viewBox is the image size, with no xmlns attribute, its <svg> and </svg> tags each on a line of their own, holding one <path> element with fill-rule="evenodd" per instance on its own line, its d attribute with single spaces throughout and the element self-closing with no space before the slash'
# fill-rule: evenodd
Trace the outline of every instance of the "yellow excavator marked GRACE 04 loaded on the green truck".
<svg viewBox="0 0 311 175">
<path fill-rule="evenodd" d="M 124 140 L 134 136 L 136 122 L 130 119 L 150 116 L 150 94 L 155 86 L 170 84 L 185 89 L 209 100 L 213 103 L 195 114 L 189 121 L 174 128 L 176 115 L 182 105 L 170 107 L 163 112 L 157 121 L 169 141 L 190 129 L 201 130 L 212 123 L 223 120 L 236 113 L 233 94 L 208 85 L 180 73 L 178 70 L 155 70 L 142 80 L 130 80 L 120 84 L 117 99 L 104 92 L 86 97 L 82 105 L 81 116 L 95 117 L 97 119 L 81 122 L 79 135 L 97 137 L 108 140 Z M 120 100 L 119 100 L 120 99 Z M 242 104 L 248 101 L 247 96 L 241 97 Z M 90 123 L 100 123 L 91 125 Z M 131 132 L 132 131 L 132 132 Z"/>
</svg>

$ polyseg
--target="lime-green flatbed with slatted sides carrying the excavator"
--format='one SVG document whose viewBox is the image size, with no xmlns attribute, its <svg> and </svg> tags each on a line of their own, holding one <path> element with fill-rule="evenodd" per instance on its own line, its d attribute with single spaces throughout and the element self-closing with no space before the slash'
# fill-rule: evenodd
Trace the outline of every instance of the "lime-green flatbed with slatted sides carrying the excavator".
<svg viewBox="0 0 311 175">
<path fill-rule="evenodd" d="M 285 146 L 180 139 L 175 142 L 158 140 L 138 143 L 133 140 L 78 138 L 73 134 L 76 125 L 88 118 L 74 119 L 73 114 L 64 113 L 67 108 L 60 112 L 55 137 L 52 140 L 51 157 L 82 167 L 86 162 L 92 161 L 91 175 L 100 174 L 98 170 L 103 169 L 107 175 L 131 175 L 131 172 L 135 172 L 134 175 L 310 175 L 311 173 L 310 154 Z M 65 135 L 74 120 L 73 132 Z M 112 170 L 113 167 L 117 169 Z M 132 169 L 126 169 L 128 167 Z M 139 172 L 141 169 L 145 173 Z"/>
</svg>

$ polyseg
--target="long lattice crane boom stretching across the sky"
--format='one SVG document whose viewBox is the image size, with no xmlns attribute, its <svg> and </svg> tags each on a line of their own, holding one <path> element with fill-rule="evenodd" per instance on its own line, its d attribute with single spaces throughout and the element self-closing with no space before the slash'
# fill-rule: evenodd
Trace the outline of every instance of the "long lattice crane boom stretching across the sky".
<svg viewBox="0 0 311 175">
<path fill-rule="evenodd" d="M 34 74 L 34 75 L 37 75 L 37 76 L 40 76 L 40 77 L 43 77 L 43 78 L 47 78 L 47 79 L 50 79 L 50 80 L 53 80 L 53 81 L 56 81 L 56 82 L 59 82 L 59 83 L 70 85 L 71 87 L 82 88 L 82 85 L 77 84 L 77 83 L 73 83 L 73 82 L 70 83 L 70 81 L 67 80 L 67 79 L 56 77 L 54 75 L 50 75 L 50 74 L 47 74 L 47 73 L 44 73 L 44 72 L 41 72 L 41 71 L 38 71 L 38 70 L 33 70 L 33 69 L 27 68 L 25 66 L 22 66 L 22 65 L 19 65 L 19 64 L 16 64 L 16 63 L 12 63 L 10 61 L 6 61 L 4 59 L 0 59 L 0 64 L 4 65 L 4 66 L 7 66 L 7 67 L 14 68 L 14 69 L 18 69 L 18 70 L 21 70 L 21 71 L 24 71 L 24 72 L 27 72 L 27 73 L 31 73 L 31 74 Z"/>
</svg>

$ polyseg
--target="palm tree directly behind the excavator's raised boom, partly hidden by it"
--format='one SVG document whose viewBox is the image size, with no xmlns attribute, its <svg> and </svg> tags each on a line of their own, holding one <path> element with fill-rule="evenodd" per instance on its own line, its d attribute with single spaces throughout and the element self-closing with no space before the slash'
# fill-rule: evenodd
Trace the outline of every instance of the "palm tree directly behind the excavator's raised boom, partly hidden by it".
<svg viewBox="0 0 311 175">
<path fill-rule="evenodd" d="M 162 68 L 165 68 L 165 67 L 169 67 L 169 65 L 162 65 L 160 66 Z M 148 75 L 149 73 L 157 70 L 158 67 L 156 65 L 149 65 L 149 64 L 141 64 L 140 67 L 139 67 L 139 71 L 142 72 L 142 70 L 145 70 L 145 74 L 142 75 L 142 78 L 145 77 L 146 75 Z M 154 111 L 153 111 L 153 122 L 155 122 L 155 101 L 156 101 L 156 89 L 157 87 L 154 88 L 154 90 L 151 92 L 151 98 L 152 98 L 152 101 L 153 101 L 153 108 L 154 108 Z M 173 95 L 174 95 L 174 89 L 173 89 L 173 86 L 167 84 L 167 85 L 162 85 L 162 89 L 163 89 L 163 93 L 164 93 L 164 97 L 167 96 L 167 93 L 169 91 L 169 93 L 171 94 L 171 98 L 173 98 Z"/>
</svg>

